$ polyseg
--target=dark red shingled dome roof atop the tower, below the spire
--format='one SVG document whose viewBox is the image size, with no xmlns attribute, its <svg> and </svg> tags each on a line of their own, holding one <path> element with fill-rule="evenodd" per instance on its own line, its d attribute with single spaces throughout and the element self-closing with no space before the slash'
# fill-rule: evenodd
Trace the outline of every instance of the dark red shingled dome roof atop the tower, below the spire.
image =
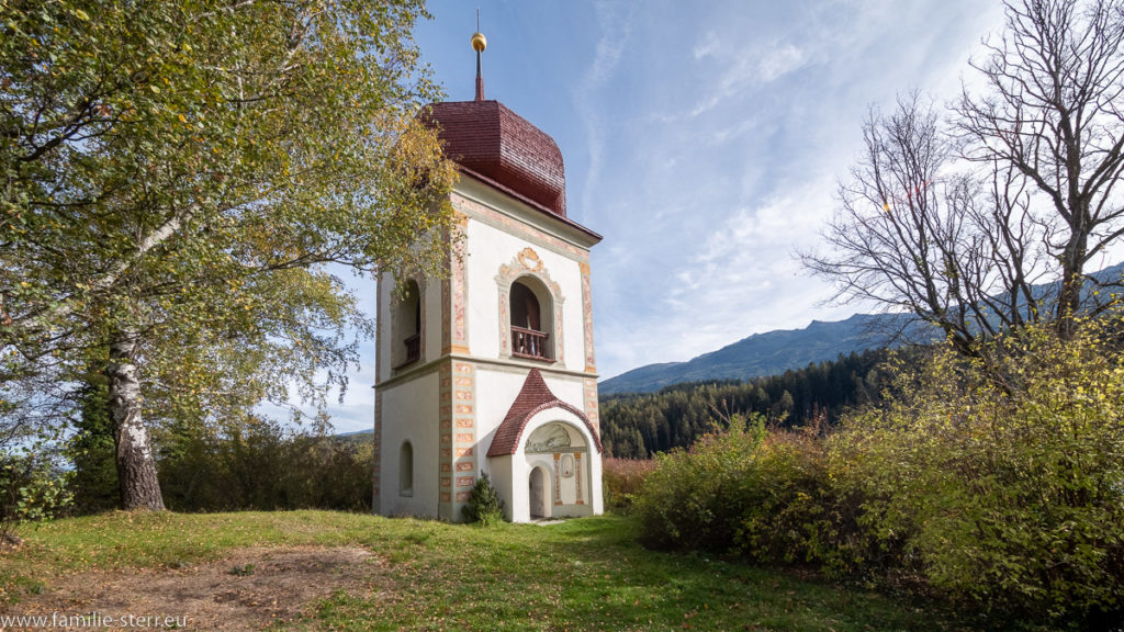
<svg viewBox="0 0 1124 632">
<path fill-rule="evenodd" d="M 433 103 L 423 117 L 457 164 L 565 217 L 562 152 L 542 129 L 499 101 Z"/>
</svg>

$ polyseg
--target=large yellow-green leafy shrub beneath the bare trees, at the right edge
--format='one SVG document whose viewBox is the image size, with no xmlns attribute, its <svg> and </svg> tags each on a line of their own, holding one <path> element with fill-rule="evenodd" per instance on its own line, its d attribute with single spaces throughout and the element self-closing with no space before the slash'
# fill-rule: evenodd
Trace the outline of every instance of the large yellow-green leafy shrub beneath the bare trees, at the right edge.
<svg viewBox="0 0 1124 632">
<path fill-rule="evenodd" d="M 1124 362 L 1087 331 L 940 350 L 831 439 L 830 479 L 898 568 L 1051 625 L 1124 616 Z"/>
</svg>

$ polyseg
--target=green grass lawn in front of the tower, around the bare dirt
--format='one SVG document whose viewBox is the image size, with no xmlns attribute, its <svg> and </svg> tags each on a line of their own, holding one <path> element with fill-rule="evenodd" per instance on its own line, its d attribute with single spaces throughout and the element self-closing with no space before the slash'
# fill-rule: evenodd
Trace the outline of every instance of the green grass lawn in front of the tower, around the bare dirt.
<svg viewBox="0 0 1124 632">
<path fill-rule="evenodd" d="M 21 535 L 19 550 L 0 553 L 0 604 L 9 614 L 75 574 L 149 569 L 144 572 L 175 577 L 178 569 L 223 563 L 250 548 L 350 545 L 371 551 L 362 570 L 370 581 L 316 599 L 275 628 L 963 629 L 877 594 L 646 551 L 619 516 L 481 529 L 333 512 L 114 513 L 28 527 Z"/>
</svg>

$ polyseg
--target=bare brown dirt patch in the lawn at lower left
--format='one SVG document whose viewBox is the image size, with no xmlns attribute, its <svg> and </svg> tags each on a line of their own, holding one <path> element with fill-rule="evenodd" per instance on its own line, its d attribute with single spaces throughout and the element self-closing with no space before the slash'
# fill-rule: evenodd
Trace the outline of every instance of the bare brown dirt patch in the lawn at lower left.
<svg viewBox="0 0 1124 632">
<path fill-rule="evenodd" d="M 47 617 L 97 613 L 110 623 L 102 629 L 116 630 L 121 629 L 121 617 L 129 615 L 155 617 L 138 622 L 149 630 L 175 628 L 175 623 L 187 630 L 261 630 L 273 622 L 291 621 L 339 590 L 356 596 L 379 593 L 386 588 L 381 579 L 384 567 L 384 560 L 356 547 L 239 549 L 221 560 L 183 569 L 89 571 L 62 577 L 52 580 L 42 594 L 27 595 L 0 613 Z M 56 621 L 54 626 L 67 625 Z M 80 629 L 98 628 L 88 620 Z"/>
</svg>

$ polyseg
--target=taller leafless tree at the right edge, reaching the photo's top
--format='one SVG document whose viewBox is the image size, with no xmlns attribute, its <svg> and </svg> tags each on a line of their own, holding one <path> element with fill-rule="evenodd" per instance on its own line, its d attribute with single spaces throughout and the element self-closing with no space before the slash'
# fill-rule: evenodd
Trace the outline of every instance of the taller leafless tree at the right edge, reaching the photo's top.
<svg viewBox="0 0 1124 632">
<path fill-rule="evenodd" d="M 1058 332 L 1072 334 L 1086 264 L 1124 234 L 1114 190 L 1124 170 L 1124 7 L 1094 0 L 1007 4 L 1007 27 L 972 63 L 984 96 L 967 89 L 955 107 L 964 157 L 1027 180 L 1024 214 L 1045 231 L 1057 261 Z M 1007 174 L 1008 180 L 1014 174 Z"/>
</svg>

